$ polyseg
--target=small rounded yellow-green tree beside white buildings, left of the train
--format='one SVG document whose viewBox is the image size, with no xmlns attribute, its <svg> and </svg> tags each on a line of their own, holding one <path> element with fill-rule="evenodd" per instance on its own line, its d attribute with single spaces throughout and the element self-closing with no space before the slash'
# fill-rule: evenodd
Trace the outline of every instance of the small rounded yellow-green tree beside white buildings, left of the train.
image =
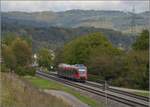
<svg viewBox="0 0 150 107">
<path fill-rule="evenodd" d="M 40 49 L 37 54 L 39 66 L 50 69 L 50 66 L 52 65 L 52 57 L 53 56 L 50 50 L 47 48 Z"/>
</svg>

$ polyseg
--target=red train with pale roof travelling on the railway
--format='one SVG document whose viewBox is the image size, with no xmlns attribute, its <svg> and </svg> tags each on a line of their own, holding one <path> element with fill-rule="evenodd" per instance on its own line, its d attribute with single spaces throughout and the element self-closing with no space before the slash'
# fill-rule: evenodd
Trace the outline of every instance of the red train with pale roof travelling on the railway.
<svg viewBox="0 0 150 107">
<path fill-rule="evenodd" d="M 59 64 L 57 74 L 61 77 L 85 82 L 87 80 L 87 67 L 83 64 Z"/>
</svg>

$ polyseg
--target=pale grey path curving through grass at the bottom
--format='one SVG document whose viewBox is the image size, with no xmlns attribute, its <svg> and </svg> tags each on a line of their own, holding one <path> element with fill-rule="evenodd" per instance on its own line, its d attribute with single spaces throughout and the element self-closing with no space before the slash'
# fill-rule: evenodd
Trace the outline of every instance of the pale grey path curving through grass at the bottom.
<svg viewBox="0 0 150 107">
<path fill-rule="evenodd" d="M 73 107 L 89 107 L 87 104 L 81 102 L 76 97 L 72 96 L 69 93 L 63 91 L 56 91 L 56 90 L 44 90 L 46 93 L 54 95 L 58 98 L 63 99 L 65 102 L 71 104 Z"/>
</svg>

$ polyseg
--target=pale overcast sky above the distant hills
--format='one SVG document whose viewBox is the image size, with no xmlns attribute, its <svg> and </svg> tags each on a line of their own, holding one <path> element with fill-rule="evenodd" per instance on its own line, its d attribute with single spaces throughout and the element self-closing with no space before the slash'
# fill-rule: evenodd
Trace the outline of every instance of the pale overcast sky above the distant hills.
<svg viewBox="0 0 150 107">
<path fill-rule="evenodd" d="M 149 11 L 148 0 L 105 0 L 105 1 L 1 1 L 2 11 L 65 11 L 82 10 L 123 10 L 135 12 Z"/>
</svg>

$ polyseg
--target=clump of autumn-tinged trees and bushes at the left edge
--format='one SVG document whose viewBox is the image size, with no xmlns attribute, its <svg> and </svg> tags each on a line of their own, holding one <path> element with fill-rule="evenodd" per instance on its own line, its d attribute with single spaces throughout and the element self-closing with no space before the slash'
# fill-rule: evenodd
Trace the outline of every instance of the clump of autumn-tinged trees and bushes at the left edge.
<svg viewBox="0 0 150 107">
<path fill-rule="evenodd" d="M 28 37 L 9 34 L 1 44 L 1 71 L 18 75 L 34 75 L 32 67 L 32 42 Z"/>
</svg>

